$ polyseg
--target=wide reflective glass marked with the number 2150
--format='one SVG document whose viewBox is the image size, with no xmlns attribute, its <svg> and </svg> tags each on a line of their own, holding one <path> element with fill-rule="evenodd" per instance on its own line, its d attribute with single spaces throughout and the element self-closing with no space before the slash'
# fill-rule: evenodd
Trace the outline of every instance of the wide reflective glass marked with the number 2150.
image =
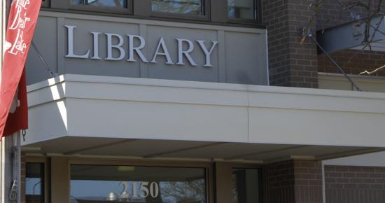
<svg viewBox="0 0 385 203">
<path fill-rule="evenodd" d="M 205 203 L 204 168 L 71 165 L 71 203 Z"/>
</svg>

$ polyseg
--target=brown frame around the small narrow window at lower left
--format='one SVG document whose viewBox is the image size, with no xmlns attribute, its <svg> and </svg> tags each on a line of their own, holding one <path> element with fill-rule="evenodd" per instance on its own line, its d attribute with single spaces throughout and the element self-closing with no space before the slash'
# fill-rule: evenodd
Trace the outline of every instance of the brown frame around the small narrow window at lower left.
<svg viewBox="0 0 385 203">
<path fill-rule="evenodd" d="M 44 196 L 44 201 L 43 202 L 49 202 L 49 197 L 50 197 L 50 193 L 49 193 L 49 188 L 50 188 L 50 168 L 49 168 L 49 164 L 48 164 L 48 158 L 43 158 L 43 157 L 27 157 L 26 160 L 25 160 L 25 179 L 27 179 L 27 163 L 38 163 L 38 164 L 42 164 L 43 165 L 43 196 Z M 25 189 L 26 185 L 25 185 L 25 181 L 24 181 L 24 186 L 23 188 Z M 24 193 L 23 195 L 25 195 L 25 198 L 27 197 L 27 194 Z M 26 200 L 26 199 L 25 199 Z"/>
</svg>

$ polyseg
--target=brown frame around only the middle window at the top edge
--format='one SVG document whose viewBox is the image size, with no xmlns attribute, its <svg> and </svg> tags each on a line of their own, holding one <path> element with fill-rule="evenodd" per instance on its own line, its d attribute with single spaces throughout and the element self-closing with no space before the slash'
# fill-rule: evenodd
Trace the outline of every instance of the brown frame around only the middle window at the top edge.
<svg viewBox="0 0 385 203">
<path fill-rule="evenodd" d="M 143 0 L 142 0 L 143 1 Z M 144 1 L 150 1 L 150 16 L 151 17 L 160 17 L 160 18 L 174 18 L 174 19 L 183 19 L 183 20 L 200 20 L 200 21 L 209 21 L 211 20 L 211 0 L 201 0 L 203 2 L 203 12 L 204 15 L 188 15 L 183 13 L 168 13 L 168 12 L 162 12 L 162 11 L 153 11 L 152 8 L 152 2 L 151 0 L 144 0 Z"/>
</svg>

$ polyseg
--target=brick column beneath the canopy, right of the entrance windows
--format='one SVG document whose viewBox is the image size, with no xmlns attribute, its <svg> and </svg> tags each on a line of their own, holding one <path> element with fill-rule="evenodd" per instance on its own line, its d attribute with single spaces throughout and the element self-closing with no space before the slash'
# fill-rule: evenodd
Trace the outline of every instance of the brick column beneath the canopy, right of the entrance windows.
<svg viewBox="0 0 385 203">
<path fill-rule="evenodd" d="M 267 165 L 265 202 L 322 203 L 321 162 L 289 160 Z"/>
</svg>

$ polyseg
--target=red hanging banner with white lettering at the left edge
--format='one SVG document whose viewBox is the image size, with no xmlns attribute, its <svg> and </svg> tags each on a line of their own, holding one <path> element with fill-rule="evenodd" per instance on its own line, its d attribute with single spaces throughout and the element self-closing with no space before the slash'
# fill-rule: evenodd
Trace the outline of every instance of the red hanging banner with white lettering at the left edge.
<svg viewBox="0 0 385 203">
<path fill-rule="evenodd" d="M 41 0 L 14 0 L 10 6 L 1 70 L 0 137 L 28 127 L 25 80 L 20 83 L 20 78 L 25 77 L 22 73 L 40 6 Z"/>
</svg>

